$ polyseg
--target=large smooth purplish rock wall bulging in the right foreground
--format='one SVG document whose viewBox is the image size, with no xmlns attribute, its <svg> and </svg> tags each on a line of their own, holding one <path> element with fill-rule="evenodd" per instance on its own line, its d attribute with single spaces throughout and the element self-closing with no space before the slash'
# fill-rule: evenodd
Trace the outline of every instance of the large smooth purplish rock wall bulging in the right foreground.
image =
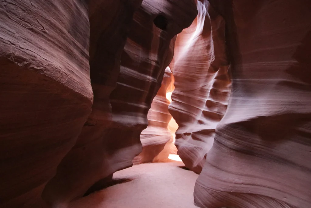
<svg viewBox="0 0 311 208">
<path fill-rule="evenodd" d="M 200 207 L 311 207 L 311 2 L 211 1 L 232 94 L 197 179 Z"/>
</svg>

